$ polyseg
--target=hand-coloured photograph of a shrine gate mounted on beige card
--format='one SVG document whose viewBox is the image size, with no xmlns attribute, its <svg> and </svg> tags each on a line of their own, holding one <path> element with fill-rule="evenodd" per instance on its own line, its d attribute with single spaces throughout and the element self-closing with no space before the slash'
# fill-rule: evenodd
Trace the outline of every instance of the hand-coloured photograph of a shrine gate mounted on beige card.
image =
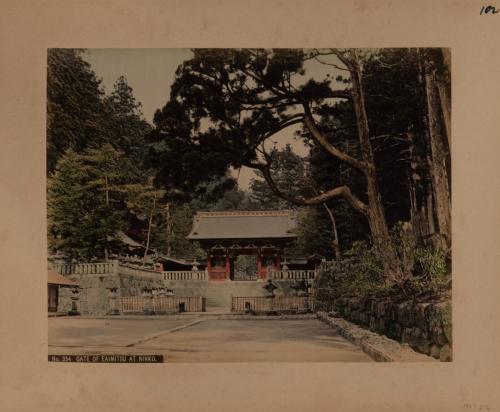
<svg viewBox="0 0 500 412">
<path fill-rule="evenodd" d="M 48 49 L 48 360 L 452 361 L 451 49 Z"/>
</svg>

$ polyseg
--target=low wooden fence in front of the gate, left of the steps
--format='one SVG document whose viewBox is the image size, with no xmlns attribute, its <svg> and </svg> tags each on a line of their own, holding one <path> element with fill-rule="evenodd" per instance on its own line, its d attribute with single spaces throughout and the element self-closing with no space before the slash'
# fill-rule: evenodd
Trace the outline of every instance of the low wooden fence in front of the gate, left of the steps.
<svg viewBox="0 0 500 412">
<path fill-rule="evenodd" d="M 205 305 L 201 296 L 126 296 L 120 298 L 122 313 L 154 312 L 203 312 Z"/>
</svg>

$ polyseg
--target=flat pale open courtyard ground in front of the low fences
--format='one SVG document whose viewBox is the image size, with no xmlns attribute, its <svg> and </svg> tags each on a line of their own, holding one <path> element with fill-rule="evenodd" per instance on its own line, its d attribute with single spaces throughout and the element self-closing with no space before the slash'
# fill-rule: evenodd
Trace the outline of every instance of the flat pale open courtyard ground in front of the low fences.
<svg viewBox="0 0 500 412">
<path fill-rule="evenodd" d="M 371 362 L 314 318 L 49 318 L 49 354 L 150 354 L 165 362 Z"/>
</svg>

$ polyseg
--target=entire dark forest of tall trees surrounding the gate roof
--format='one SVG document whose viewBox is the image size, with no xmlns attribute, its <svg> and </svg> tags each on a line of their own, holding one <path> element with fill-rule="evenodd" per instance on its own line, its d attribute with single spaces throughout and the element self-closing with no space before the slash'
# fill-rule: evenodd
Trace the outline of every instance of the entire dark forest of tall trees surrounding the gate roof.
<svg viewBox="0 0 500 412">
<path fill-rule="evenodd" d="M 49 254 L 107 259 L 130 238 L 201 256 L 185 239 L 199 210 L 296 209 L 292 253 L 374 253 L 399 283 L 438 254 L 449 273 L 447 50 L 193 52 L 149 124 L 125 77 L 106 94 L 85 50 L 49 50 Z M 309 78 L 310 60 L 335 75 Z M 292 125 L 306 157 L 270 143 Z M 247 190 L 229 173 L 242 166 Z"/>
</svg>

